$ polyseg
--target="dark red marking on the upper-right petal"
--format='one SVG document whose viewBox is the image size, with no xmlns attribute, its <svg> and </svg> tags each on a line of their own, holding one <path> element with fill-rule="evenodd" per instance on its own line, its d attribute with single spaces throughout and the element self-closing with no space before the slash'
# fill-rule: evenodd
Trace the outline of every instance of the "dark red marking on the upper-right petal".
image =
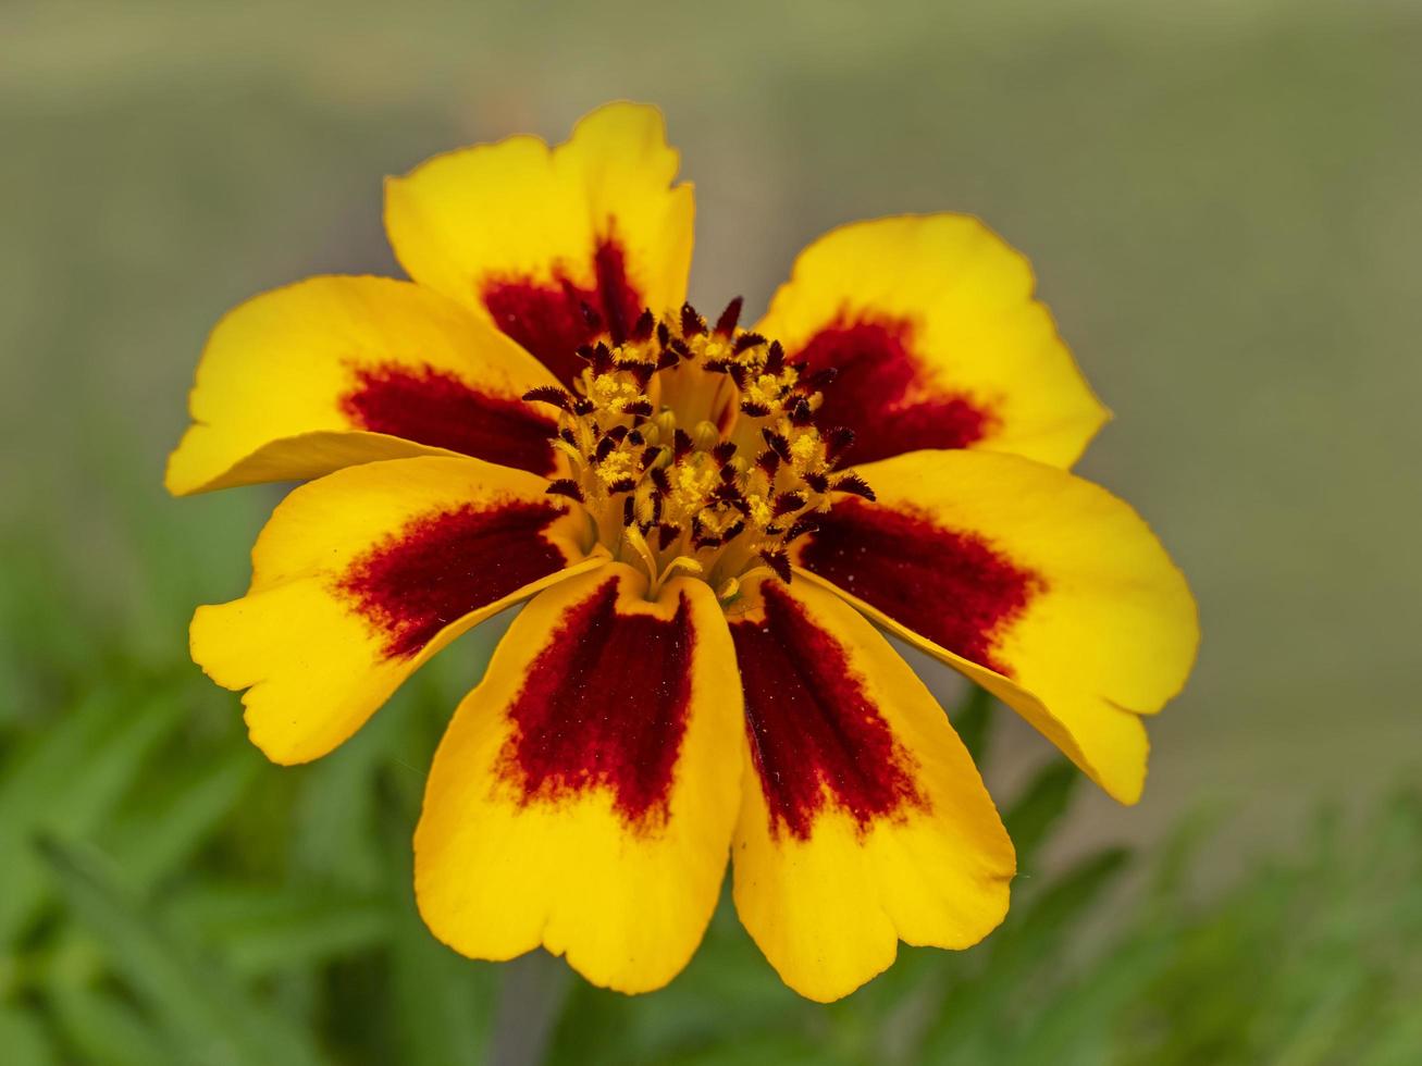
<svg viewBox="0 0 1422 1066">
<path fill-rule="evenodd" d="M 855 431 L 849 462 L 867 463 L 921 448 L 967 448 L 998 418 L 963 394 L 920 399 L 923 381 L 906 318 L 843 317 L 822 328 L 796 354 L 811 371 L 839 371 L 816 412 L 819 425 Z M 936 388 L 936 387 L 934 387 Z"/>
</svg>

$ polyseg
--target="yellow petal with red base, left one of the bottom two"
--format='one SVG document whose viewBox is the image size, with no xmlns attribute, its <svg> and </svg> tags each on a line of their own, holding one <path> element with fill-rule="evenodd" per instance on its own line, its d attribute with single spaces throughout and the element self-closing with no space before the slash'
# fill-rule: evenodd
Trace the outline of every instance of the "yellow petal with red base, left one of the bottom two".
<svg viewBox="0 0 1422 1066">
<path fill-rule="evenodd" d="M 643 992 L 701 941 L 739 797 L 735 659 L 702 581 L 646 588 L 614 563 L 542 593 L 449 725 L 415 895 L 456 951 L 543 945 Z"/>
</svg>

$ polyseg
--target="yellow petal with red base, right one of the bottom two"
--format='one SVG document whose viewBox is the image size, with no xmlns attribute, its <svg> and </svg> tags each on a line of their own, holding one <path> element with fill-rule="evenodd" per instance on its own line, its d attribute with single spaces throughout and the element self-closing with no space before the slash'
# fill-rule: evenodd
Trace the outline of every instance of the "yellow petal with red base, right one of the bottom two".
<svg viewBox="0 0 1422 1066">
<path fill-rule="evenodd" d="M 813 583 L 731 617 L 745 696 L 741 921 L 801 995 L 848 995 L 897 942 L 966 948 L 1007 912 L 1012 844 L 923 682 Z"/>
</svg>

